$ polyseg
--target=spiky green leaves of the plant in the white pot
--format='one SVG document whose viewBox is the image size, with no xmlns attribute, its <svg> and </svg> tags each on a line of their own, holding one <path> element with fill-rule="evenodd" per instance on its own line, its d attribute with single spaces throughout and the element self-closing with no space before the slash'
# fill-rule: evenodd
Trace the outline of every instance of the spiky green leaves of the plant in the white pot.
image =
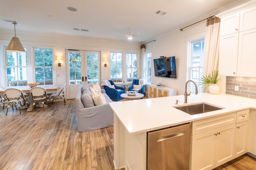
<svg viewBox="0 0 256 170">
<path fill-rule="evenodd" d="M 217 84 L 218 82 L 220 82 L 221 78 L 219 75 L 219 71 L 214 70 L 212 71 L 212 73 L 209 73 L 206 76 L 202 76 L 200 80 L 200 85 L 203 85 L 202 88 L 204 87 L 204 89 L 206 89 L 210 84 Z"/>
</svg>

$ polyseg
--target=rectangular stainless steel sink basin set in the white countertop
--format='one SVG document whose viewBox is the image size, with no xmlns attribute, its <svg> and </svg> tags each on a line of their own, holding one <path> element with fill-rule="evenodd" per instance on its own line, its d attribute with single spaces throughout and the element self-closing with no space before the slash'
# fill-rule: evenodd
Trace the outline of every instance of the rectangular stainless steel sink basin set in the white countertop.
<svg viewBox="0 0 256 170">
<path fill-rule="evenodd" d="M 196 103 L 196 104 L 190 104 L 190 105 L 185 105 L 185 106 L 174 106 L 176 109 L 179 109 L 181 111 L 184 111 L 190 115 L 196 115 L 199 113 L 206 113 L 209 111 L 215 111 L 215 110 L 220 110 L 223 109 L 218 106 L 212 106 L 210 104 L 206 103 Z"/>
</svg>

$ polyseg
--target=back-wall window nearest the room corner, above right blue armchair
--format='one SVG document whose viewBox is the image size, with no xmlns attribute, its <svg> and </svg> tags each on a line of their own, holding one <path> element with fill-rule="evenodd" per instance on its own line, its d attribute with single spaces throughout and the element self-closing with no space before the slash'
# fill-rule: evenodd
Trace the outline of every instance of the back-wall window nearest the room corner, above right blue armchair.
<svg viewBox="0 0 256 170">
<path fill-rule="evenodd" d="M 126 54 L 127 82 L 137 79 L 137 54 Z"/>
</svg>

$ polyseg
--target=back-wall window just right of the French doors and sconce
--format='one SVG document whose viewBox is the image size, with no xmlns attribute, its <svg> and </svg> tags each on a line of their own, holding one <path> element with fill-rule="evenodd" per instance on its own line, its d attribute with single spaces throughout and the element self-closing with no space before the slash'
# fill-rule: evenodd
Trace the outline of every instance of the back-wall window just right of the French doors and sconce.
<svg viewBox="0 0 256 170">
<path fill-rule="evenodd" d="M 110 52 L 110 74 L 113 82 L 122 82 L 122 53 Z"/>
</svg>

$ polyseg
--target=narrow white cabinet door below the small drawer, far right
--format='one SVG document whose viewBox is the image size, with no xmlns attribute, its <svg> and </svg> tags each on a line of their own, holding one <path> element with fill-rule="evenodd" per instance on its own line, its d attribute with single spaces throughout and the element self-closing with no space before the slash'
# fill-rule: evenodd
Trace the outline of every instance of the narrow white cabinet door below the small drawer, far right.
<svg viewBox="0 0 256 170">
<path fill-rule="evenodd" d="M 245 154 L 248 148 L 248 121 L 236 123 L 235 158 Z"/>
</svg>

